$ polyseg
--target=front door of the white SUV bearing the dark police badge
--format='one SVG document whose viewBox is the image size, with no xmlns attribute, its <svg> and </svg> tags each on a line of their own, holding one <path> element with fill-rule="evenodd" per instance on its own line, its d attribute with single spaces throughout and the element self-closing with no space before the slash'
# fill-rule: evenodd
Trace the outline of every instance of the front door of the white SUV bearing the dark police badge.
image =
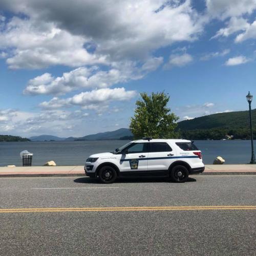
<svg viewBox="0 0 256 256">
<path fill-rule="evenodd" d="M 132 143 L 121 152 L 120 172 L 147 171 L 148 142 Z"/>
</svg>

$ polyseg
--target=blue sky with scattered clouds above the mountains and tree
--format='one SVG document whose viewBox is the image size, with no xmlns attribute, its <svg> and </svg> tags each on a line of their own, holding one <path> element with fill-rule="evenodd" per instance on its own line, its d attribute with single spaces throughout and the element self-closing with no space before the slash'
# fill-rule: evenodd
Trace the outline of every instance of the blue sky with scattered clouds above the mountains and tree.
<svg viewBox="0 0 256 256">
<path fill-rule="evenodd" d="M 75 3 L 1 1 L 0 134 L 128 127 L 140 92 L 180 120 L 248 108 L 256 0 Z"/>
</svg>

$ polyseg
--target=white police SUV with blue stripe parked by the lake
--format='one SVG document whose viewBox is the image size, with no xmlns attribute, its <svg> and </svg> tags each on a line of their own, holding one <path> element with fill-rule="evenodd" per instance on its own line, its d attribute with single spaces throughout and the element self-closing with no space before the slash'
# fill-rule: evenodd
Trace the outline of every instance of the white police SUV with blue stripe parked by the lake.
<svg viewBox="0 0 256 256">
<path fill-rule="evenodd" d="M 169 177 L 185 182 L 189 174 L 202 173 L 202 153 L 189 140 L 152 139 L 131 141 L 115 152 L 91 155 L 84 166 L 86 175 L 112 183 L 117 177 Z"/>
</svg>

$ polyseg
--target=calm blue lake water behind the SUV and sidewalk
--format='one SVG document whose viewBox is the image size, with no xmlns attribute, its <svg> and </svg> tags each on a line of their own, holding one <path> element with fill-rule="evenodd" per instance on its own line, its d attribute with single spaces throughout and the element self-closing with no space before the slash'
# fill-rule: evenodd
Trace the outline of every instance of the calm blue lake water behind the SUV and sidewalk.
<svg viewBox="0 0 256 256">
<path fill-rule="evenodd" d="M 23 150 L 34 154 L 32 165 L 44 165 L 50 160 L 54 160 L 57 165 L 83 165 L 90 155 L 114 151 L 127 142 L 129 141 L 0 142 L 0 166 L 22 166 L 19 153 Z M 202 151 L 205 164 L 212 164 L 217 156 L 223 157 L 226 164 L 250 162 L 249 140 L 198 140 L 195 144 Z"/>
</svg>

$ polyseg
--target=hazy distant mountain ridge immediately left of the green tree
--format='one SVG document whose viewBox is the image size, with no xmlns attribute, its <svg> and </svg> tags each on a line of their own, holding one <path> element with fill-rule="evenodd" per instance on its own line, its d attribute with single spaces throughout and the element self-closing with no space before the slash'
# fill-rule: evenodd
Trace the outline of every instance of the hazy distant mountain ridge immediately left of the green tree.
<svg viewBox="0 0 256 256">
<path fill-rule="evenodd" d="M 133 134 L 129 129 L 121 128 L 112 132 L 91 134 L 91 135 L 87 135 L 80 138 L 74 138 L 74 139 L 75 140 L 119 140 L 120 138 L 126 137 L 126 136 L 133 136 Z M 68 139 L 70 140 L 71 138 L 68 138 Z"/>
</svg>

